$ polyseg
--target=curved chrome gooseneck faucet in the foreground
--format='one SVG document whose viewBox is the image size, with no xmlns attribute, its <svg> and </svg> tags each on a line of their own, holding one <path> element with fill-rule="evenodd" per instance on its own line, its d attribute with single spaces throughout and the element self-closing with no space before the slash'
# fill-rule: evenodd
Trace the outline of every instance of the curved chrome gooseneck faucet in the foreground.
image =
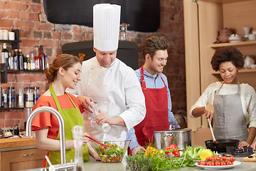
<svg viewBox="0 0 256 171">
<path fill-rule="evenodd" d="M 58 119 L 58 123 L 60 125 L 59 131 L 60 131 L 60 160 L 61 164 L 66 164 L 66 157 L 65 157 L 65 125 L 64 125 L 64 120 L 62 115 L 58 112 L 58 110 L 55 110 L 54 108 L 50 108 L 48 106 L 43 106 L 40 108 L 37 108 L 36 110 L 33 110 L 31 115 L 28 116 L 27 124 L 26 124 L 26 136 L 31 137 L 31 123 L 33 118 L 38 113 L 42 112 L 48 112 L 48 113 L 53 113 Z"/>
</svg>

